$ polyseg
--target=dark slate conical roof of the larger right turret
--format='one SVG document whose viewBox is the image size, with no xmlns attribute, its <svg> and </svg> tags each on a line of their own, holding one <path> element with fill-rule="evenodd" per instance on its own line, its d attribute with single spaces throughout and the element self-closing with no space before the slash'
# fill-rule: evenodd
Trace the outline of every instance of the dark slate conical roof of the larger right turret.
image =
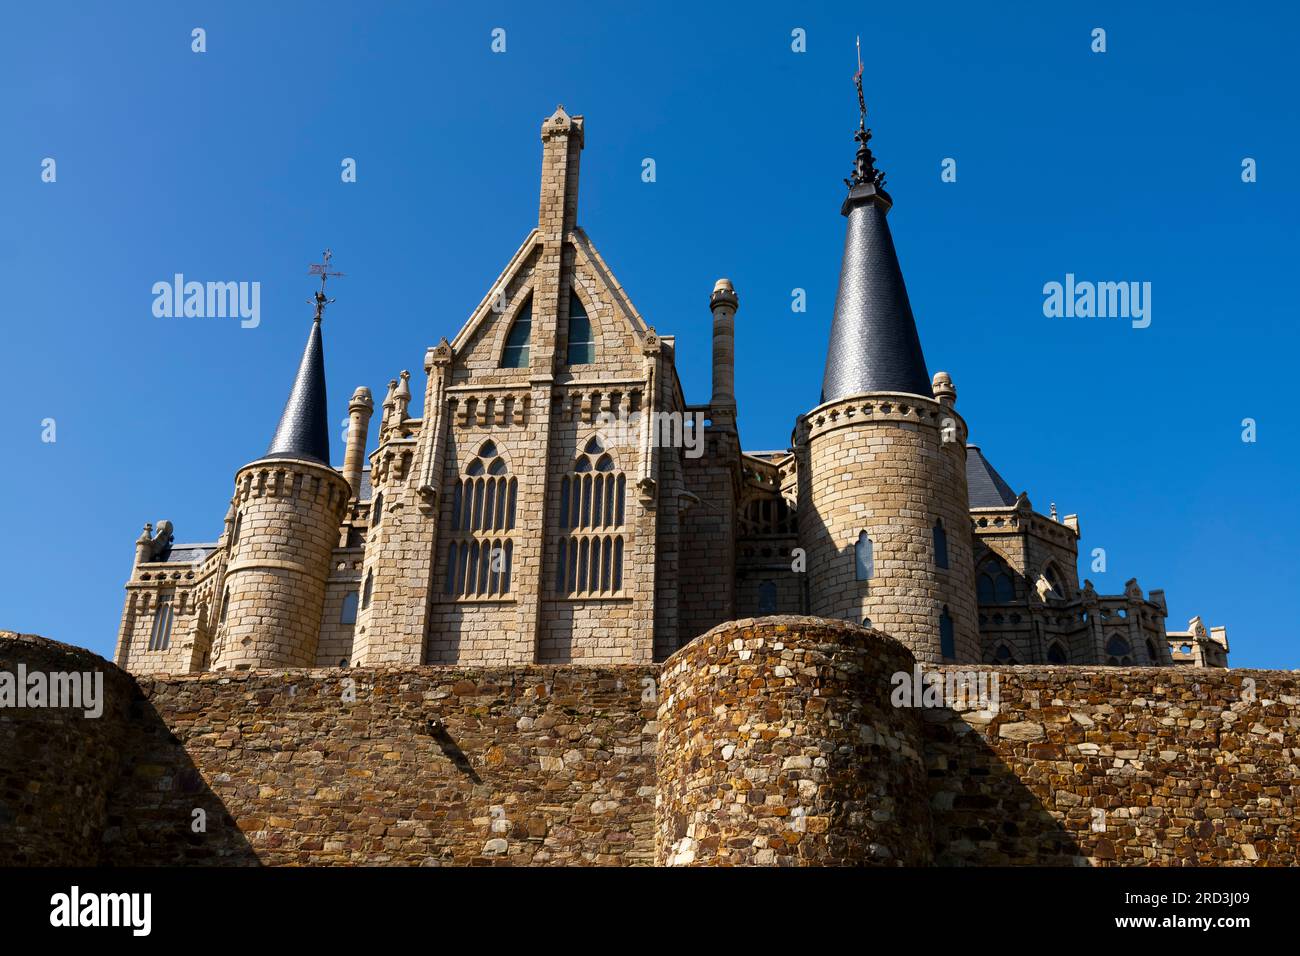
<svg viewBox="0 0 1300 956">
<path fill-rule="evenodd" d="M 822 378 L 823 402 L 862 392 L 933 397 L 885 222 L 888 208 L 888 200 L 871 186 L 854 186 L 844 204 L 849 226 Z"/>
</svg>

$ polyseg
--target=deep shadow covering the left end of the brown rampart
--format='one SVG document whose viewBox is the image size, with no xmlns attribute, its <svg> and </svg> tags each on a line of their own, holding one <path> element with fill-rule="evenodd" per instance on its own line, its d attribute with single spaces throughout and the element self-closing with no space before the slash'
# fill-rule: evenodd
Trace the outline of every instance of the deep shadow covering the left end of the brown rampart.
<svg viewBox="0 0 1300 956">
<path fill-rule="evenodd" d="M 25 691 L 26 705 L 0 706 L 0 862 L 257 864 L 125 671 L 82 648 L 0 632 L 0 682 Z M 57 702 L 77 706 L 49 706 L 56 685 Z"/>
</svg>

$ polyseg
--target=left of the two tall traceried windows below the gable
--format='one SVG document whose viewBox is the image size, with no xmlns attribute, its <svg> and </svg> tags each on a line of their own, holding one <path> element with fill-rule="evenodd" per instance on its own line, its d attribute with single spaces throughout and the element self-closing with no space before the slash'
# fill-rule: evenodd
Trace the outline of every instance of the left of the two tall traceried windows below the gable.
<svg viewBox="0 0 1300 956">
<path fill-rule="evenodd" d="M 510 593 L 517 494 L 519 483 L 497 442 L 485 441 L 451 492 L 445 593 L 465 598 Z"/>
</svg>

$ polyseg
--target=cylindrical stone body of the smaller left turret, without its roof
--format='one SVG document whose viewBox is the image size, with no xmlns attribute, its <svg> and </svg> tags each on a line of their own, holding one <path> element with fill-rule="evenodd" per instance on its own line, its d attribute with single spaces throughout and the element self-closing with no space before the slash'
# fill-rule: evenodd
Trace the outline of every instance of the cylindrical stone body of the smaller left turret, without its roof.
<svg viewBox="0 0 1300 956">
<path fill-rule="evenodd" d="M 213 670 L 312 667 L 325 580 L 351 488 L 333 468 L 265 458 L 235 475 L 238 536 Z"/>
</svg>

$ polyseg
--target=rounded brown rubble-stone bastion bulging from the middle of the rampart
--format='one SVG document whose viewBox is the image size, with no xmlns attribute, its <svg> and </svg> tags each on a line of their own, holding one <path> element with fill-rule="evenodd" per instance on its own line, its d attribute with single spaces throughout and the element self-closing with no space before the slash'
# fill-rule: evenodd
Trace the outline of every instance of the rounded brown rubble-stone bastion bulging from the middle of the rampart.
<svg viewBox="0 0 1300 956">
<path fill-rule="evenodd" d="M 924 865 L 931 818 L 898 641 L 819 618 L 737 620 L 663 665 L 655 861 Z"/>
</svg>

